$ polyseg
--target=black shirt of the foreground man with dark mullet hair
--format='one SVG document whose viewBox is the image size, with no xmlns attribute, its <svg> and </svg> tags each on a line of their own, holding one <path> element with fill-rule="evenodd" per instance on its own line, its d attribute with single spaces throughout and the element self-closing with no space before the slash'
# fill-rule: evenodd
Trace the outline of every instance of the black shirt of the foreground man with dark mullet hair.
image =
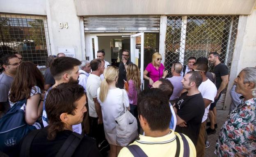
<svg viewBox="0 0 256 157">
<path fill-rule="evenodd" d="M 63 130 L 57 133 L 54 140 L 48 140 L 47 129 L 48 127 L 45 127 L 40 130 L 34 138 L 30 146 L 30 157 L 55 157 L 66 139 L 72 133 L 71 130 Z M 89 137 L 84 137 L 72 157 L 101 157 L 101 155 L 96 146 L 96 142 Z"/>
</svg>

